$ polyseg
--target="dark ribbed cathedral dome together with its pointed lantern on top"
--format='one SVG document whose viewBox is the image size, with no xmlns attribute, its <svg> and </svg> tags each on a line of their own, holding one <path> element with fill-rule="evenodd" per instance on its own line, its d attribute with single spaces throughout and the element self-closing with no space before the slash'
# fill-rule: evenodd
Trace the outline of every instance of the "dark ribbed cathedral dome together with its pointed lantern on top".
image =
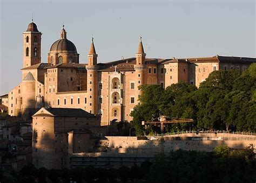
<svg viewBox="0 0 256 183">
<path fill-rule="evenodd" d="M 64 25 L 62 31 L 60 31 L 60 39 L 56 40 L 56 42 L 51 45 L 50 51 L 77 53 L 75 44 L 66 38 Z"/>
</svg>

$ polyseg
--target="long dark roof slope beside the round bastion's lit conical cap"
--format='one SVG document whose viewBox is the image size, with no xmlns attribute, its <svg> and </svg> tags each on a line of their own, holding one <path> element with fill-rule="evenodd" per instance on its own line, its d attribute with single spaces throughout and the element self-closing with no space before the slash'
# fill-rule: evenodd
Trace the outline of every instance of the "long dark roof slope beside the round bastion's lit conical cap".
<svg viewBox="0 0 256 183">
<path fill-rule="evenodd" d="M 82 109 L 74 108 L 44 108 L 46 111 L 50 112 L 56 117 L 95 117 L 94 114 L 86 112 Z"/>
</svg>

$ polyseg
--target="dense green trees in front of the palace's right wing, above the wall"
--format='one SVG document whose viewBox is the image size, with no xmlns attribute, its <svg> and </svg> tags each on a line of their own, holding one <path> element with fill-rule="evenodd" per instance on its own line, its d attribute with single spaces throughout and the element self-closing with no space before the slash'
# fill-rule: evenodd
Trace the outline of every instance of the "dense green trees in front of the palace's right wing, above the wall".
<svg viewBox="0 0 256 183">
<path fill-rule="evenodd" d="M 233 130 L 256 132 L 256 63 L 244 72 L 219 70 L 210 73 L 200 87 L 176 83 L 163 89 L 160 85 L 140 86 L 140 104 L 131 112 L 131 126 L 137 135 L 159 130 L 147 129 L 142 121 L 161 115 L 192 118 L 193 124 L 166 125 L 176 130 Z"/>
</svg>

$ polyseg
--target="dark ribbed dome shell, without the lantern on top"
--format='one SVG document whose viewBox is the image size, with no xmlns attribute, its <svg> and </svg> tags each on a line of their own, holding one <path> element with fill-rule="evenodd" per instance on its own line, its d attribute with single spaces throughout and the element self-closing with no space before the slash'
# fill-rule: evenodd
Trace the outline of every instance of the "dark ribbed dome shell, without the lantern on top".
<svg viewBox="0 0 256 183">
<path fill-rule="evenodd" d="M 75 44 L 65 38 L 56 40 L 56 42 L 51 45 L 50 51 L 68 51 L 77 53 Z"/>
</svg>

